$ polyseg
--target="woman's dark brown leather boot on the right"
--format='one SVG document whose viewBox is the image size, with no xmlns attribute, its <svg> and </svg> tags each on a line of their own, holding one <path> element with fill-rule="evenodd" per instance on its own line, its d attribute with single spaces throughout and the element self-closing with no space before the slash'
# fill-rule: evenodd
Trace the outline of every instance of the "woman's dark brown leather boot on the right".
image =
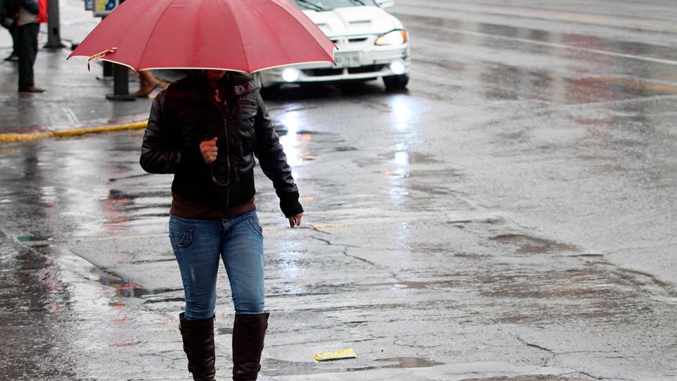
<svg viewBox="0 0 677 381">
<path fill-rule="evenodd" d="M 233 325 L 233 380 L 251 381 L 261 369 L 263 339 L 269 313 L 235 315 Z"/>
</svg>

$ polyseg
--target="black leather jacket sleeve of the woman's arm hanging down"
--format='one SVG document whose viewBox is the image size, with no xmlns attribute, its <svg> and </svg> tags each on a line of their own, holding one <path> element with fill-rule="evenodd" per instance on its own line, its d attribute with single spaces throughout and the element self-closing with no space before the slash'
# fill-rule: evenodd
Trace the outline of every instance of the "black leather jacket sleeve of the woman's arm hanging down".
<svg viewBox="0 0 677 381">
<path fill-rule="evenodd" d="M 292 217 L 303 213 L 303 207 L 298 202 L 298 188 L 291 176 L 291 167 L 287 164 L 280 139 L 270 119 L 270 115 L 263 103 L 263 98 L 257 92 L 258 111 L 254 130 L 256 133 L 256 157 L 263 173 L 273 181 L 275 193 L 280 198 L 280 209 L 285 217 Z"/>
</svg>

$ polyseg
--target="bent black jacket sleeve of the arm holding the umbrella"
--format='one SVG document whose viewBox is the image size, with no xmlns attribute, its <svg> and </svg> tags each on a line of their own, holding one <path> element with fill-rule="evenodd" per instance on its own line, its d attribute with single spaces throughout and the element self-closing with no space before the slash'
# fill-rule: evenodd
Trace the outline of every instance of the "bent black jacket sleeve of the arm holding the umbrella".
<svg viewBox="0 0 677 381">
<path fill-rule="evenodd" d="M 181 147 L 163 94 L 155 97 L 141 145 L 141 167 L 151 174 L 176 174 L 205 164 L 199 145 Z"/>
</svg>

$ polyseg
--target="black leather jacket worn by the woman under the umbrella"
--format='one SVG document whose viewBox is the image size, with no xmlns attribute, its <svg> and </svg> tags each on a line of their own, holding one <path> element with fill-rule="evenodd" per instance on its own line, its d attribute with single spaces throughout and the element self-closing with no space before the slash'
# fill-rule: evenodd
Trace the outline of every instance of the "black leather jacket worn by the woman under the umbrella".
<svg viewBox="0 0 677 381">
<path fill-rule="evenodd" d="M 221 81 L 228 90 L 221 95 L 225 113 L 216 106 L 204 75 L 188 75 L 157 95 L 143 136 L 141 167 L 152 174 L 174 174 L 171 191 L 181 198 L 228 207 L 254 197 L 256 155 L 285 216 L 303 212 L 257 85 L 243 73 L 228 73 Z M 219 153 L 216 162 L 205 164 L 200 142 L 214 137 Z"/>
</svg>

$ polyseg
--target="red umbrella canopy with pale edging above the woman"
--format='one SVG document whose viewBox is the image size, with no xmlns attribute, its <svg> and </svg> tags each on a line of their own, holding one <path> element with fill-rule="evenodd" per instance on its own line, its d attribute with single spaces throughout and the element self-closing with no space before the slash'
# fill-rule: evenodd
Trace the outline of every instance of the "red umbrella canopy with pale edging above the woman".
<svg viewBox="0 0 677 381">
<path fill-rule="evenodd" d="M 288 0 L 126 0 L 68 58 L 252 73 L 334 62 L 335 48 Z"/>
</svg>

